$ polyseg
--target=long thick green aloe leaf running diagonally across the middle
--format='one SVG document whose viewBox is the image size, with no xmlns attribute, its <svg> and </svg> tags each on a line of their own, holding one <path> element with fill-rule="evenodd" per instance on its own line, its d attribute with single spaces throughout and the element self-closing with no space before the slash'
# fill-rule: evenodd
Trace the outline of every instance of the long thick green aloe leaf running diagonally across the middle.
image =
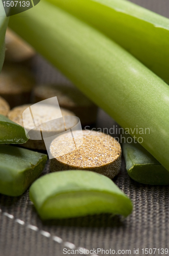
<svg viewBox="0 0 169 256">
<path fill-rule="evenodd" d="M 41 1 L 10 26 L 122 127 L 150 129 L 142 145 L 169 170 L 169 87 L 114 41 Z M 36 26 L 35 26 L 36 24 Z"/>
</svg>

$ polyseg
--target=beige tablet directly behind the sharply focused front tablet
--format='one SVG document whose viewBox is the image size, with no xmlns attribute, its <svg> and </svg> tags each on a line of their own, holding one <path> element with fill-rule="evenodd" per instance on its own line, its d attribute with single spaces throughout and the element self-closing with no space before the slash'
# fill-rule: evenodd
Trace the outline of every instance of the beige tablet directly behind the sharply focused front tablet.
<svg viewBox="0 0 169 256">
<path fill-rule="evenodd" d="M 30 112 L 30 109 L 26 112 L 26 114 L 24 115 L 23 125 L 22 114 L 24 110 L 29 108 L 30 106 L 31 104 L 16 106 L 16 108 L 12 109 L 8 114 L 8 118 L 10 120 L 24 126 L 26 131 L 33 129 L 32 124 L 34 122 L 34 131 L 33 133 L 31 133 L 31 135 L 33 134 L 34 138 L 38 139 L 29 139 L 26 143 L 22 144 L 22 146 L 26 148 L 31 148 L 34 150 L 46 150 L 44 140 L 39 139 L 39 133 L 41 133 L 43 138 L 50 137 L 62 133 L 65 131 L 65 128 L 66 130 L 68 130 L 77 124 L 77 120 L 71 118 L 71 116 L 75 116 L 75 114 L 64 109 L 61 109 L 62 116 L 69 116 L 66 119 L 66 124 L 62 118 L 48 121 L 51 120 L 53 116 L 57 114 L 57 111 L 59 113 L 60 109 L 52 105 L 38 104 L 37 106 L 33 105 L 34 110 L 31 111 L 32 113 Z M 37 123 L 41 124 L 41 126 L 36 126 Z"/>
</svg>

